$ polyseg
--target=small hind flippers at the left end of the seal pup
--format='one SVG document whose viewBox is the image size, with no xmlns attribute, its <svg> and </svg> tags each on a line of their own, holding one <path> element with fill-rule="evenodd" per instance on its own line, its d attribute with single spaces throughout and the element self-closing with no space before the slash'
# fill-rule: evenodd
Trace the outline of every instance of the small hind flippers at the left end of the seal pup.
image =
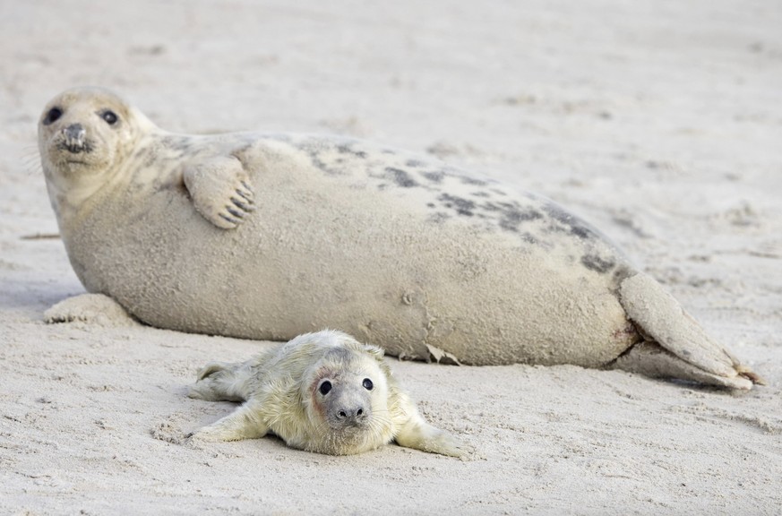
<svg viewBox="0 0 782 516">
<path fill-rule="evenodd" d="M 245 401 L 247 380 L 253 375 L 247 362 L 211 362 L 198 372 L 198 380 L 190 387 L 190 398 L 208 401 Z"/>
</svg>

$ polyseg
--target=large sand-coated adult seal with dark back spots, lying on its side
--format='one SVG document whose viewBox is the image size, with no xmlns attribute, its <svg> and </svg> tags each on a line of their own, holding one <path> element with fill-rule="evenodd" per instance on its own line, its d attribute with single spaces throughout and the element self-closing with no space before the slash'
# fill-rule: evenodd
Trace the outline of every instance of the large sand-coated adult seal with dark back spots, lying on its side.
<svg viewBox="0 0 782 516">
<path fill-rule="evenodd" d="M 596 229 L 436 160 L 167 133 L 96 89 L 48 103 L 39 150 L 77 276 L 143 323 L 260 340 L 328 327 L 398 357 L 760 382 Z"/>
</svg>

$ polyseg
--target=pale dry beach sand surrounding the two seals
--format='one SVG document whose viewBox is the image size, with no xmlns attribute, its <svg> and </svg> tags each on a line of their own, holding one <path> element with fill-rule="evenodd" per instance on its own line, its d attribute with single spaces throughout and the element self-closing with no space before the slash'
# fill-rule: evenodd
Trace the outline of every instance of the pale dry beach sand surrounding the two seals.
<svg viewBox="0 0 782 516">
<path fill-rule="evenodd" d="M 782 7 L 774 0 L 0 1 L 0 513 L 782 514 Z M 731 393 L 574 366 L 392 361 L 475 452 L 181 445 L 261 342 L 46 325 L 82 293 L 35 125 L 117 90 L 190 133 L 429 152 L 590 219 L 764 375 Z"/>
</svg>

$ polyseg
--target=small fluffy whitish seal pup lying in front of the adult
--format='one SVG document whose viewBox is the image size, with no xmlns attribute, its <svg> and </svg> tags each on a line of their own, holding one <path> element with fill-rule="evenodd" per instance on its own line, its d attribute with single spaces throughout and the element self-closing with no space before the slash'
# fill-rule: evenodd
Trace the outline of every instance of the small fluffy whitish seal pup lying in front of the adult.
<svg viewBox="0 0 782 516">
<path fill-rule="evenodd" d="M 465 452 L 421 417 L 382 348 L 339 331 L 299 335 L 243 363 L 211 363 L 188 396 L 244 401 L 193 439 L 238 441 L 272 432 L 292 448 L 330 455 L 368 452 L 391 441 L 452 457 Z"/>
</svg>

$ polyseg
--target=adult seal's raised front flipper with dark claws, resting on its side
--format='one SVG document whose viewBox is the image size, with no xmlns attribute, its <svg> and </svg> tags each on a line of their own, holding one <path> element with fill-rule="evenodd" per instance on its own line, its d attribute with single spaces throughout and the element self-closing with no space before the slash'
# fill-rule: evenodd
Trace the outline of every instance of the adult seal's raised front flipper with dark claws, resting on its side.
<svg viewBox="0 0 782 516">
<path fill-rule="evenodd" d="M 188 165 L 183 179 L 195 209 L 218 228 L 236 228 L 255 209 L 250 176 L 234 157 Z"/>
</svg>

